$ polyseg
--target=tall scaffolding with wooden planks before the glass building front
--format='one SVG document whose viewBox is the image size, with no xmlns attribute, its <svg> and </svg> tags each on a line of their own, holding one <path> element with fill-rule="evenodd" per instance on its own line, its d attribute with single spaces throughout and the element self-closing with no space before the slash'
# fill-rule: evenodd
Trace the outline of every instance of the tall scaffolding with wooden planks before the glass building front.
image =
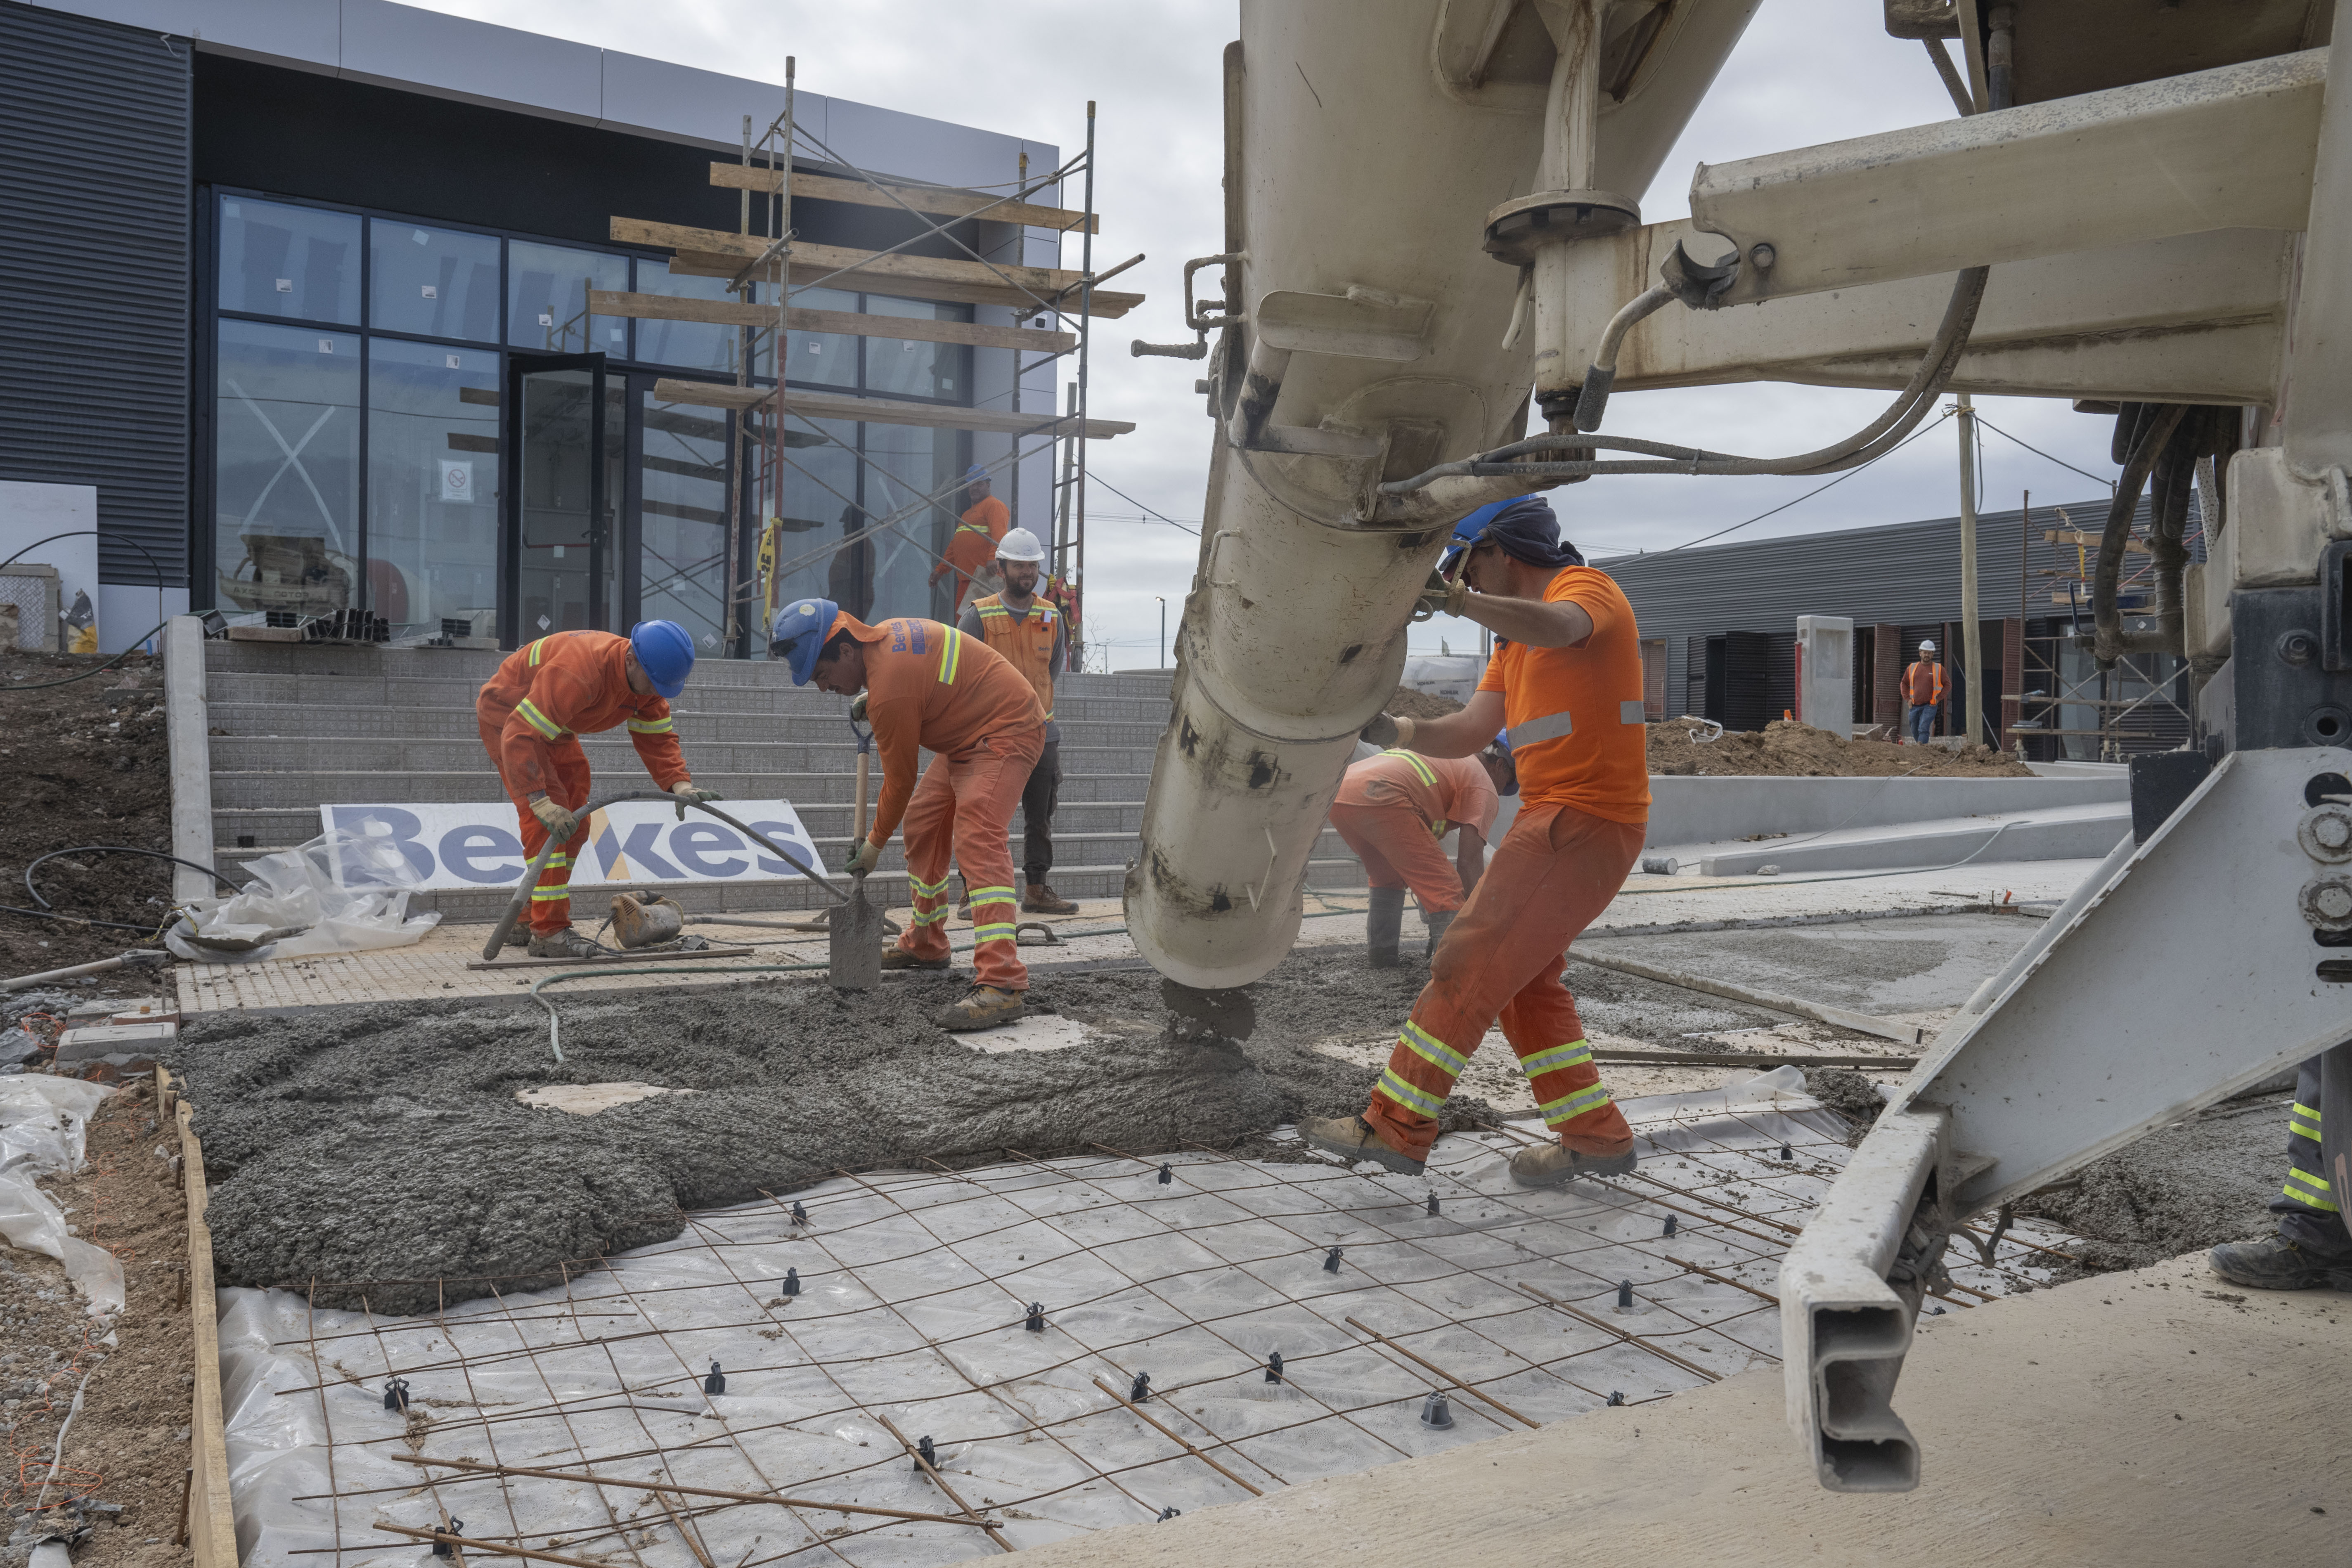
<svg viewBox="0 0 2352 1568">
<path fill-rule="evenodd" d="M 1101 287 L 1143 261 L 1141 254 L 1103 273 L 1094 270 L 1094 237 L 1098 233 L 1098 216 L 1094 212 L 1096 106 L 1087 103 L 1087 146 L 1080 155 L 1056 169 L 1030 174 L 1028 153 L 1023 153 L 1016 179 L 1009 186 L 969 188 L 884 176 L 858 167 L 804 122 L 795 120 L 795 94 L 797 59 L 786 59 L 783 113 L 760 136 L 753 136 L 755 122 L 746 115 L 739 160 L 731 165 L 710 165 L 710 183 L 734 188 L 741 195 L 736 233 L 628 216 L 612 219 L 614 240 L 668 249 L 673 254 L 673 275 L 724 277 L 727 292 L 736 296 L 734 301 L 604 289 L 588 294 L 590 315 L 750 329 L 750 343 L 736 362 L 734 386 L 663 378 L 654 388 L 654 395 L 663 402 L 727 409 L 739 416 L 734 463 L 729 465 L 729 515 L 741 520 L 748 503 L 757 505 L 760 529 L 755 541 L 746 541 L 741 527 L 729 531 L 727 646 L 731 651 L 743 649 L 746 639 L 750 646 L 764 644 L 764 628 L 779 609 L 783 583 L 795 571 L 835 557 L 842 550 L 863 552 L 856 559 L 870 562 L 882 536 L 894 534 L 934 562 L 946 564 L 943 552 L 922 536 L 917 524 L 931 522 L 938 512 L 953 515 L 955 508 L 948 503 L 967 487 L 964 477 L 875 515 L 873 508 L 861 505 L 851 494 L 842 494 L 840 487 L 795 456 L 809 449 L 847 451 L 854 463 L 882 473 L 887 484 L 903 487 L 903 475 L 889 473 L 861 444 L 842 442 L 818 423 L 858 421 L 868 425 L 922 425 L 1009 437 L 1004 454 L 976 465 L 990 477 L 1000 470 L 1011 470 L 1009 512 L 1016 527 L 1021 522 L 1023 461 L 1040 454 L 1051 461 L 1058 447 L 1061 477 L 1054 480 L 1054 494 L 1044 508 L 1051 520 L 1049 531 L 1054 534 L 1049 545 L 1051 564 L 1037 595 L 1063 609 L 1075 661 L 1087 576 L 1087 444 L 1134 430 L 1134 423 L 1127 421 L 1091 418 L 1089 339 L 1096 317 L 1120 317 L 1143 303 L 1141 294 L 1120 294 Z M 1070 179 L 1082 181 L 1082 205 L 1077 209 L 1047 207 L 1030 200 L 1040 193 L 1058 190 Z M 795 233 L 795 197 L 887 209 L 910 219 L 913 228 L 903 240 L 884 249 L 868 252 L 816 244 Z M 1077 270 L 1004 263 L 983 256 L 955 228 L 983 219 L 1014 223 L 1023 233 L 1030 228 L 1047 228 L 1056 235 L 1077 230 Z M 910 247 L 931 240 L 943 242 L 955 254 L 910 254 Z M 927 249 L 938 247 L 931 244 Z M 809 289 L 821 287 L 858 287 L 941 303 L 1009 308 L 1014 324 L 816 310 L 795 303 Z M 762 289 L 767 289 L 764 296 Z M 929 404 L 788 386 L 786 369 L 795 331 L 1009 348 L 1014 355 L 1011 407 Z M 1068 407 L 1061 411 L 1051 404 L 1042 411 L 1021 409 L 1023 376 L 1058 360 L 1075 360 Z M 771 371 L 769 386 L 760 386 L 760 376 L 755 374 L 762 362 Z M 800 475 L 844 503 L 844 536 L 840 541 L 826 541 L 793 557 L 783 555 L 788 475 Z M 861 527 L 851 531 L 849 520 L 861 520 Z M 748 625 L 753 618 L 746 611 L 757 611 L 755 625 Z M 753 630 L 757 630 L 755 637 L 750 637 Z"/>
</svg>

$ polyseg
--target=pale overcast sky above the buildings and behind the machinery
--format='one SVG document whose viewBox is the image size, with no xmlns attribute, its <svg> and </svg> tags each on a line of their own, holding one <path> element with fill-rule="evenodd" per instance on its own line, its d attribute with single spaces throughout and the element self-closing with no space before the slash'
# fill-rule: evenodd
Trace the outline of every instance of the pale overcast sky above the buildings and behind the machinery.
<svg viewBox="0 0 2352 1568">
<path fill-rule="evenodd" d="M 416 2 L 416 0 L 412 0 Z M 1209 421 L 1185 360 L 1134 360 L 1129 339 L 1178 341 L 1181 275 L 1188 256 L 1218 249 L 1218 59 L 1237 38 L 1230 0 L 423 0 L 430 9 L 496 21 L 607 49 L 781 82 L 783 56 L 800 56 L 800 85 L 995 132 L 1051 141 L 1073 153 L 1096 99 L 1098 266 L 1145 252 L 1115 287 L 1150 301 L 1094 339 L 1096 416 L 1131 418 L 1134 435 L 1094 447 L 1094 473 L 1134 498 L 1096 489 L 1087 538 L 1089 621 L 1117 628 L 1120 668 L 1157 658 L 1157 604 L 1178 614 L 1192 578 L 1195 538 L 1141 522 L 1143 510 L 1197 527 L 1209 473 Z M 1649 221 L 1689 212 L 1691 169 L 1759 153 L 1865 136 L 1952 118 L 1952 103 L 1917 42 L 1889 38 L 1882 0 L 1764 0 L 1715 92 L 1642 197 Z M 1105 261 L 1108 259 L 1108 261 Z M 1073 244 L 1068 266 L 1077 263 Z M 1889 393 L 1802 386 L 1726 386 L 1628 393 L 1609 404 L 1618 435 L 1696 440 L 1757 456 L 1806 451 L 1863 423 Z M 1947 400 L 1950 404 L 1950 400 Z M 1990 425 L 2100 480 L 2110 418 L 2065 402 L 1978 400 Z M 1985 510 L 2089 501 L 2098 480 L 1985 435 Z M 1566 534 L 1588 555 L 1661 550 L 1733 527 L 1797 501 L 1820 480 L 1616 477 L 1552 491 Z M 1955 423 L 1790 505 L 1733 538 L 1950 517 L 1959 510 Z M 1414 635 L 1416 654 L 1439 639 L 1477 646 L 1468 621 L 1432 621 Z"/>
</svg>

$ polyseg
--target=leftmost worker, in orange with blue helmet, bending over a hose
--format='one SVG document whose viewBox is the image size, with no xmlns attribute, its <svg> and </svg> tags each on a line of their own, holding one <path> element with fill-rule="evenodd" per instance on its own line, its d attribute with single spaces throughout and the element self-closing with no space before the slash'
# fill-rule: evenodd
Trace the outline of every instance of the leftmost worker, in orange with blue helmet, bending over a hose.
<svg viewBox="0 0 2352 1568">
<path fill-rule="evenodd" d="M 628 741 L 644 771 L 680 799 L 720 799 L 687 778 L 670 698 L 694 668 L 694 639 L 675 621 L 640 621 L 628 637 L 614 632 L 555 632 L 515 649 L 473 701 L 482 748 L 499 783 L 515 802 L 522 856 L 548 856 L 532 889 L 529 952 L 534 959 L 583 959 L 600 947 L 572 929 L 572 863 L 588 842 L 579 809 L 588 804 L 588 755 L 581 736 L 628 724 Z M 520 933 L 508 945 L 522 940 Z"/>
</svg>

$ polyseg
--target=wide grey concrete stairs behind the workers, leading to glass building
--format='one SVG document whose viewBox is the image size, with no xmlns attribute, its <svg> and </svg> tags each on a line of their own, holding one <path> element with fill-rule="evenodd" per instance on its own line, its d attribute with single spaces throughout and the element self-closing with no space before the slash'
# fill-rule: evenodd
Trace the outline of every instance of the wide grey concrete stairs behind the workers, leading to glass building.
<svg viewBox="0 0 2352 1568">
<path fill-rule="evenodd" d="M 320 835 L 322 804 L 503 802 L 482 752 L 473 698 L 499 654 L 207 642 L 205 724 L 216 865 Z M 788 799 L 826 865 L 849 844 L 856 743 L 847 703 L 795 689 L 769 661 L 703 661 L 673 703 L 696 783 L 734 799 Z M 1167 726 L 1169 677 L 1070 675 L 1056 691 L 1061 809 L 1054 889 L 1115 898 L 1138 851 L 1152 748 Z M 583 738 L 600 790 L 652 790 L 623 731 Z M 880 788 L 880 778 L 875 780 Z M 1011 851 L 1021 860 L 1021 816 Z M 906 905 L 898 842 L 875 893 Z M 1324 830 L 1312 886 L 1355 886 L 1362 870 Z M 649 884 L 699 912 L 800 910 L 830 903 L 807 882 Z M 496 919 L 510 889 L 416 893 L 412 907 L 454 922 Z"/>
</svg>

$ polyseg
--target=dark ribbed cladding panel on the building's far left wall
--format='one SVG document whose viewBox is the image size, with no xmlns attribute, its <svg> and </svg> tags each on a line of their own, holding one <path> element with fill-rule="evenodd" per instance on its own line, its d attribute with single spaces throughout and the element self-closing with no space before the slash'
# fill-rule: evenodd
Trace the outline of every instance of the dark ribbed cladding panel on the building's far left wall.
<svg viewBox="0 0 2352 1568">
<path fill-rule="evenodd" d="M 0 480 L 96 484 L 108 583 L 188 581 L 188 106 L 186 42 L 0 0 Z"/>
</svg>

